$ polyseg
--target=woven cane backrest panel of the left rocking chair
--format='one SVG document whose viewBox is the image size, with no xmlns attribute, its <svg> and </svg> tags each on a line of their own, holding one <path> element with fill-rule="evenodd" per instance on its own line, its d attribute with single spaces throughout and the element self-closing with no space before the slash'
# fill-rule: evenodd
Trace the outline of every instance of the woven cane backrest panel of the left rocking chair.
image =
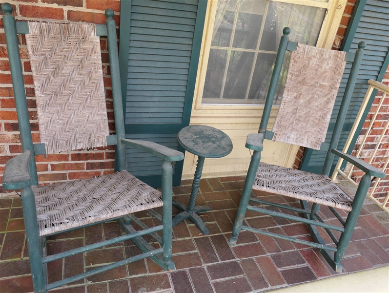
<svg viewBox="0 0 389 293">
<path fill-rule="evenodd" d="M 29 26 L 26 41 L 46 153 L 106 146 L 108 120 L 95 25 Z"/>
</svg>

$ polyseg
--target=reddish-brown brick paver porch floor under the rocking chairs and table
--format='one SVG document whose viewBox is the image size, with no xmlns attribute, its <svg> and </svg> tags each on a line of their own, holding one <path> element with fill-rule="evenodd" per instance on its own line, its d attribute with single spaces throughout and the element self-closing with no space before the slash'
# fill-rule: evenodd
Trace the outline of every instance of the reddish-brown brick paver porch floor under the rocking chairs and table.
<svg viewBox="0 0 389 293">
<path fill-rule="evenodd" d="M 242 232 L 237 246 L 228 245 L 244 179 L 239 176 L 202 179 L 197 203 L 211 211 L 201 214 L 208 229 L 204 236 L 189 219 L 173 229 L 173 261 L 177 270 L 165 272 L 149 259 L 119 267 L 52 292 L 135 293 L 135 292 L 264 292 L 290 285 L 339 275 L 325 262 L 317 249 L 280 239 Z M 174 188 L 178 200 L 187 203 L 190 180 Z M 298 201 L 255 191 L 255 196 L 283 205 L 298 207 Z M 258 204 L 259 205 L 259 204 Z M 0 198 L 0 292 L 31 292 L 32 282 L 24 224 L 17 197 Z M 259 205 L 261 206 L 261 205 Z M 264 207 L 278 210 L 278 208 Z M 173 214 L 178 209 L 173 208 Z M 298 215 L 295 212 L 290 212 Z M 326 209 L 320 214 L 328 222 L 335 217 Z M 346 217 L 347 213 L 341 212 Z M 301 215 L 300 215 L 301 216 Z M 147 225 L 158 225 L 147 213 L 138 217 Z M 352 241 L 342 260 L 344 272 L 357 272 L 389 264 L 389 217 L 366 200 Z M 284 235 L 311 240 L 307 227 L 294 221 L 247 212 L 246 225 Z M 48 253 L 116 237 L 123 233 L 116 222 L 104 223 L 48 237 Z M 146 237 L 147 240 L 152 238 Z M 325 241 L 331 243 L 329 237 Z M 158 243 L 153 243 L 159 247 Z M 130 257 L 140 250 L 130 240 L 52 262 L 50 282 Z"/>
</svg>

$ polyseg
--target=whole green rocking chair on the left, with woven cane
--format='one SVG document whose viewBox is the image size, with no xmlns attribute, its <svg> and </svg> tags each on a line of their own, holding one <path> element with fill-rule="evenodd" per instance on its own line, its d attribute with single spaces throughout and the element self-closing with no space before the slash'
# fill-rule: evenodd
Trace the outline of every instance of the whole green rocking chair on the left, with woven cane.
<svg viewBox="0 0 389 293">
<path fill-rule="evenodd" d="M 165 270 L 174 270 L 172 253 L 172 162 L 183 153 L 147 141 L 124 138 L 123 105 L 114 12 L 107 9 L 105 25 L 90 23 L 16 22 L 12 6 L 3 3 L 4 29 L 23 153 L 6 164 L 3 187 L 21 189 L 21 201 L 34 292 L 47 292 L 106 270 L 150 257 Z M 33 144 L 21 71 L 17 34 L 26 34 L 37 99 L 41 144 Z M 108 135 L 100 36 L 107 36 L 115 135 Z M 118 172 L 90 179 L 38 186 L 35 155 L 79 148 L 116 146 Z M 164 160 L 161 192 L 127 172 L 126 146 Z M 162 216 L 154 208 L 162 207 Z M 132 213 L 147 210 L 162 222 L 147 227 Z M 117 220 L 125 235 L 81 248 L 46 255 L 46 237 Z M 135 222 L 143 230 L 135 230 Z M 162 231 L 162 237 L 157 234 Z M 155 249 L 143 238 L 161 243 Z M 131 239 L 140 255 L 46 284 L 48 262 Z"/>
</svg>

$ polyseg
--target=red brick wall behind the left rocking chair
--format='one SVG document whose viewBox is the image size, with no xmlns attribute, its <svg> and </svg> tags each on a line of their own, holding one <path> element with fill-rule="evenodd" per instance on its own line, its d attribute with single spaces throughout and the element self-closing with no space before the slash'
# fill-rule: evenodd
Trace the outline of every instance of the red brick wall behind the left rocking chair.
<svg viewBox="0 0 389 293">
<path fill-rule="evenodd" d="M 1 0 L 1 3 L 5 1 Z M 52 19 L 58 21 L 87 21 L 105 23 L 104 10 L 112 8 L 114 19 L 119 25 L 119 0 L 20 0 L 7 1 L 14 7 L 16 20 L 39 21 Z M 2 12 L 0 12 L 2 14 Z M 1 16 L 0 16 L 1 17 Z M 39 143 L 37 109 L 35 104 L 32 73 L 28 59 L 25 39 L 20 38 L 20 56 L 27 96 L 27 105 L 31 121 L 34 143 Z M 110 132 L 114 133 L 114 115 L 112 92 L 109 79 L 109 64 L 106 39 L 101 39 L 103 75 L 108 109 Z M 0 181 L 5 163 L 21 152 L 18 119 L 13 98 L 11 76 L 2 17 L 0 20 Z M 53 154 L 45 157 L 36 156 L 38 179 L 41 184 L 61 182 L 71 179 L 89 178 L 113 172 L 115 149 L 112 146 L 100 147 L 88 151 L 71 151 L 70 153 Z M 2 189 L 1 195 L 13 192 Z"/>
</svg>

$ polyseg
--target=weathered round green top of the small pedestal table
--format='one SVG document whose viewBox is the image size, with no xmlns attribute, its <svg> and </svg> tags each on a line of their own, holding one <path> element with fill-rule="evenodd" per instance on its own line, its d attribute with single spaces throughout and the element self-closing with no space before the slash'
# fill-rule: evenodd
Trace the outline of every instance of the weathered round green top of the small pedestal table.
<svg viewBox="0 0 389 293">
<path fill-rule="evenodd" d="M 221 158 L 232 151 L 228 135 L 210 126 L 186 126 L 177 134 L 177 139 L 185 150 L 205 158 Z"/>
</svg>

